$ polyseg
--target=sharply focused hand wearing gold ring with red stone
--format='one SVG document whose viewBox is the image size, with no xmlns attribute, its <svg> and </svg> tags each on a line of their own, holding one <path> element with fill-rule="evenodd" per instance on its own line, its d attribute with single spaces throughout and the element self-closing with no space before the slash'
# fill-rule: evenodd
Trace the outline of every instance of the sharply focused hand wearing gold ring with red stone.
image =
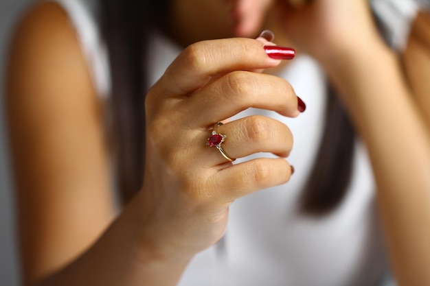
<svg viewBox="0 0 430 286">
<path fill-rule="evenodd" d="M 264 44 L 236 38 L 191 45 L 149 91 L 144 187 L 136 198 L 148 251 L 192 256 L 222 237 L 234 200 L 288 181 L 284 158 L 234 165 L 205 145 L 214 123 L 250 106 L 299 114 L 288 82 L 253 72 L 280 63 Z M 231 121 L 217 131 L 227 135 L 223 149 L 231 158 L 256 152 L 286 157 L 293 143 L 290 130 L 268 117 Z"/>
</svg>

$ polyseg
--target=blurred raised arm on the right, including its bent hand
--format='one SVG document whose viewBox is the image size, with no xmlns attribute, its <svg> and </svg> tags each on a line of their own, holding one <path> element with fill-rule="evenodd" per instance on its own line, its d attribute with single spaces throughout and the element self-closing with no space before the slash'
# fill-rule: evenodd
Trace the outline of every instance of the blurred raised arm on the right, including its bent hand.
<svg viewBox="0 0 430 286">
<path fill-rule="evenodd" d="M 430 285 L 430 128 L 400 60 L 366 1 L 317 0 L 288 16 L 295 43 L 327 71 L 367 145 L 398 282 Z"/>
</svg>

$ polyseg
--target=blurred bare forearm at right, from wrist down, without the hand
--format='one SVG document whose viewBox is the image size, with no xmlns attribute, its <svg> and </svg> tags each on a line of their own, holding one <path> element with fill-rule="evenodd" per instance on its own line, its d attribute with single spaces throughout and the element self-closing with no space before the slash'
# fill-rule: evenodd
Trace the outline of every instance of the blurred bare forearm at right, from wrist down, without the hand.
<svg viewBox="0 0 430 286">
<path fill-rule="evenodd" d="M 374 45 L 325 65 L 370 153 L 385 236 L 400 285 L 430 285 L 429 128 L 398 61 Z"/>
</svg>

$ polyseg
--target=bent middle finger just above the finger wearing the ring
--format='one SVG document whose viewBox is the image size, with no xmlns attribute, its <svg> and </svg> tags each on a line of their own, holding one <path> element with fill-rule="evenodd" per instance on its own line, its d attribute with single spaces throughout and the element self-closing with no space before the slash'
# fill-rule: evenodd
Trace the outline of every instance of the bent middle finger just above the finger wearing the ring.
<svg viewBox="0 0 430 286">
<path fill-rule="evenodd" d="M 273 75 L 234 71 L 194 93 L 181 103 L 194 127 L 211 126 L 247 108 L 273 110 L 296 117 L 297 95 L 291 84 Z"/>
</svg>

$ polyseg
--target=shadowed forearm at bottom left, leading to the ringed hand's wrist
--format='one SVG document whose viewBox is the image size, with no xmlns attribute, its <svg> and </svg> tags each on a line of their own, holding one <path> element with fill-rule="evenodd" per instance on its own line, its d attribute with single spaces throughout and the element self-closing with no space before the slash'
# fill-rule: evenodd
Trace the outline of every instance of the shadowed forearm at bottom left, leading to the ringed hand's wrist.
<svg viewBox="0 0 430 286">
<path fill-rule="evenodd" d="M 176 285 L 191 257 L 161 255 L 142 242 L 134 203 L 76 261 L 35 285 Z"/>
</svg>

